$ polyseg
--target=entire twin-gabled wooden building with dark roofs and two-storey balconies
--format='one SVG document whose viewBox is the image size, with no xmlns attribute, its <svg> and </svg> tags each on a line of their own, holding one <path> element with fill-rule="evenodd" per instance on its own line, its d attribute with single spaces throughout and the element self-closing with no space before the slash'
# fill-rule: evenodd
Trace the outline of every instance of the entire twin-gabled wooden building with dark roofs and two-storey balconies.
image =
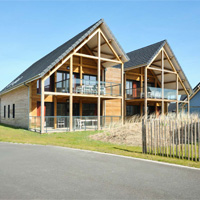
<svg viewBox="0 0 200 200">
<path fill-rule="evenodd" d="M 126 116 L 167 113 L 191 91 L 167 41 L 126 54 L 101 19 L 0 92 L 0 122 L 41 133 L 100 130 Z"/>
</svg>

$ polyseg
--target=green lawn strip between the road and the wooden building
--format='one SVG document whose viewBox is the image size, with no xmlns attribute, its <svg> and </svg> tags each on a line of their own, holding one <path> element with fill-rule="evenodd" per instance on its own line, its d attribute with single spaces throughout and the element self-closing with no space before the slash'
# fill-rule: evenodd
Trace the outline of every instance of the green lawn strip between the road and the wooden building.
<svg viewBox="0 0 200 200">
<path fill-rule="evenodd" d="M 96 133 L 96 131 L 82 131 L 41 135 L 39 133 L 0 124 L 0 141 L 2 142 L 73 147 L 200 168 L 200 162 L 142 154 L 141 147 L 116 145 L 95 141 L 89 138 L 89 135 Z"/>
</svg>

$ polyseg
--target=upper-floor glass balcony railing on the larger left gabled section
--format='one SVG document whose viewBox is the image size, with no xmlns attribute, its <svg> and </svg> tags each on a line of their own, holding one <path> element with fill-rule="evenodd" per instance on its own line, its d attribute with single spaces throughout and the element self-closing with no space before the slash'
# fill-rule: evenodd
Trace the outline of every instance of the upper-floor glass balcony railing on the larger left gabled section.
<svg viewBox="0 0 200 200">
<path fill-rule="evenodd" d="M 69 93 L 70 80 L 64 80 L 56 83 L 56 92 Z M 73 79 L 72 86 L 75 94 L 98 94 L 98 81 Z M 100 81 L 100 95 L 121 96 L 121 84 Z"/>
</svg>

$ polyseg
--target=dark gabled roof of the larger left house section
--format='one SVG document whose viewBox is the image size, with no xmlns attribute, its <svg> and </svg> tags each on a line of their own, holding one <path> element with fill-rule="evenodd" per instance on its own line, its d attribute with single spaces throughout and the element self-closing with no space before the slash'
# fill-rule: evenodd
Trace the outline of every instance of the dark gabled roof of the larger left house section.
<svg viewBox="0 0 200 200">
<path fill-rule="evenodd" d="M 44 76 L 51 68 L 53 68 L 60 60 L 62 60 L 66 55 L 68 55 L 74 48 L 76 48 L 89 34 L 91 34 L 96 28 L 99 26 L 102 27 L 105 34 L 110 37 L 109 39 L 113 39 L 113 46 L 117 53 L 122 56 L 122 60 L 124 62 L 128 61 L 126 53 L 122 49 L 122 47 L 117 42 L 116 38 L 106 25 L 103 19 L 100 19 L 92 26 L 88 27 L 81 33 L 77 34 L 75 37 L 71 38 L 34 64 L 32 64 L 28 69 L 26 69 L 22 74 L 20 74 L 14 81 L 12 81 L 9 85 L 7 85 L 1 92 L 5 93 L 14 89 L 16 87 L 21 86 L 22 84 L 28 83 L 32 80 L 41 78 Z"/>
</svg>

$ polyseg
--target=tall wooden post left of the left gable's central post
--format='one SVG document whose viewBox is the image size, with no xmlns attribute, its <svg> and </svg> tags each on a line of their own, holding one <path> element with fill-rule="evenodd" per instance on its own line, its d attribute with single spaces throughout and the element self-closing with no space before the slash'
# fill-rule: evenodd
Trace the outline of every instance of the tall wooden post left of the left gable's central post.
<svg viewBox="0 0 200 200">
<path fill-rule="evenodd" d="M 69 131 L 73 130 L 73 96 L 72 96 L 72 90 L 73 90 L 73 56 L 70 57 L 70 71 L 69 71 Z"/>
</svg>

